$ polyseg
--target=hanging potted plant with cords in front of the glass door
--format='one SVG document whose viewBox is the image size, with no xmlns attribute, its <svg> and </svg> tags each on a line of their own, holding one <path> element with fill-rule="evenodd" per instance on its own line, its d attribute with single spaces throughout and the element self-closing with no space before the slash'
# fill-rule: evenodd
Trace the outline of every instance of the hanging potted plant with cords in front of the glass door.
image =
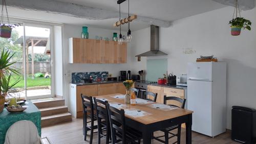
<svg viewBox="0 0 256 144">
<path fill-rule="evenodd" d="M 6 10 L 7 22 L 8 24 L 4 23 L 4 8 Z M 1 21 L 0 21 L 0 37 L 3 38 L 10 38 L 12 33 L 12 28 L 19 26 L 19 24 L 10 25 L 9 16 L 7 12 L 6 2 L 5 0 L 2 1 L 2 13 L 1 13 Z"/>
</svg>

